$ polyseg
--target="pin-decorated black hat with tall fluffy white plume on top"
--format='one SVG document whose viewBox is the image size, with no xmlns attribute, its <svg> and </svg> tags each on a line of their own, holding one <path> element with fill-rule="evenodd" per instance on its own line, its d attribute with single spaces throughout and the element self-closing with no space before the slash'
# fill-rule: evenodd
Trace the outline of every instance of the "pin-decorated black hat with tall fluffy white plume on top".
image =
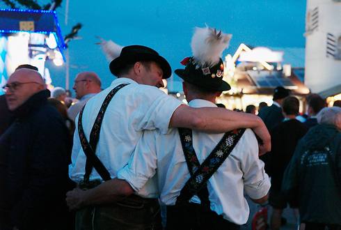
<svg viewBox="0 0 341 230">
<path fill-rule="evenodd" d="M 209 27 L 196 27 L 191 49 L 193 56 L 181 61 L 184 69 L 177 69 L 175 73 L 193 85 L 207 91 L 228 91 L 231 86 L 223 81 L 224 65 L 221 59 L 223 50 L 226 49 L 232 38 Z"/>
</svg>

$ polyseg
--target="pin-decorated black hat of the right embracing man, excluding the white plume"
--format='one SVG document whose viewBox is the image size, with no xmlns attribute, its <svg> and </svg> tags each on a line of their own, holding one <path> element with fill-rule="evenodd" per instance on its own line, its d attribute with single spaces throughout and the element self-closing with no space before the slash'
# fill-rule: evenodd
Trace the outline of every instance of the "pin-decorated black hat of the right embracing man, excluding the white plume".
<svg viewBox="0 0 341 230">
<path fill-rule="evenodd" d="M 196 59 L 191 56 L 181 63 L 186 67 L 175 70 L 175 73 L 185 82 L 207 91 L 228 91 L 231 89 L 228 82 L 223 81 L 223 60 L 220 59 L 214 66 L 201 67 L 197 64 Z"/>
</svg>

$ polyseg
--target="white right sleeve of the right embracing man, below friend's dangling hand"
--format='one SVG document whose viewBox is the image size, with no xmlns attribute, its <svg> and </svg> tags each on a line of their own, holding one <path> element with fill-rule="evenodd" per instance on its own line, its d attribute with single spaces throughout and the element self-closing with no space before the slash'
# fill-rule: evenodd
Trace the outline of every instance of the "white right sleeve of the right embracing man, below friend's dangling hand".
<svg viewBox="0 0 341 230">
<path fill-rule="evenodd" d="M 241 163 L 241 169 L 244 171 L 244 189 L 251 199 L 260 199 L 267 195 L 271 183 L 269 176 L 265 173 L 264 162 L 258 157 L 258 144 L 255 135 L 251 130 L 244 133 L 246 141 L 244 161 Z"/>
</svg>

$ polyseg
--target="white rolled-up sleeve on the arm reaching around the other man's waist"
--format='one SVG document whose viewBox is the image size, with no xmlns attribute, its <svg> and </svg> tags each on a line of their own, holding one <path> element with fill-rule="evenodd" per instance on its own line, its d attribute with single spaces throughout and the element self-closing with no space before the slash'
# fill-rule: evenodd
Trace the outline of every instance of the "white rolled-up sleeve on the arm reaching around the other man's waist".
<svg viewBox="0 0 341 230">
<path fill-rule="evenodd" d="M 156 174 L 157 153 L 154 132 L 146 130 L 136 145 L 128 164 L 118 171 L 118 178 L 127 181 L 138 192 Z"/>
</svg>

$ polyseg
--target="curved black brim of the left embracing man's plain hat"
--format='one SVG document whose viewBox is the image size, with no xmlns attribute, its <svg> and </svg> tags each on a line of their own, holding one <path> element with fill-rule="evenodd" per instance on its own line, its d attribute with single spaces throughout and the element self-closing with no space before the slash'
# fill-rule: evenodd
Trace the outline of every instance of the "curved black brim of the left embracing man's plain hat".
<svg viewBox="0 0 341 230">
<path fill-rule="evenodd" d="M 120 70 L 124 68 L 127 64 L 136 63 L 137 61 L 155 61 L 159 64 L 163 74 L 163 79 L 167 79 L 172 74 L 172 69 L 166 59 L 163 56 L 155 54 L 130 54 L 125 56 L 118 56 L 118 58 L 113 59 L 109 64 L 110 72 L 117 76 Z"/>
</svg>

